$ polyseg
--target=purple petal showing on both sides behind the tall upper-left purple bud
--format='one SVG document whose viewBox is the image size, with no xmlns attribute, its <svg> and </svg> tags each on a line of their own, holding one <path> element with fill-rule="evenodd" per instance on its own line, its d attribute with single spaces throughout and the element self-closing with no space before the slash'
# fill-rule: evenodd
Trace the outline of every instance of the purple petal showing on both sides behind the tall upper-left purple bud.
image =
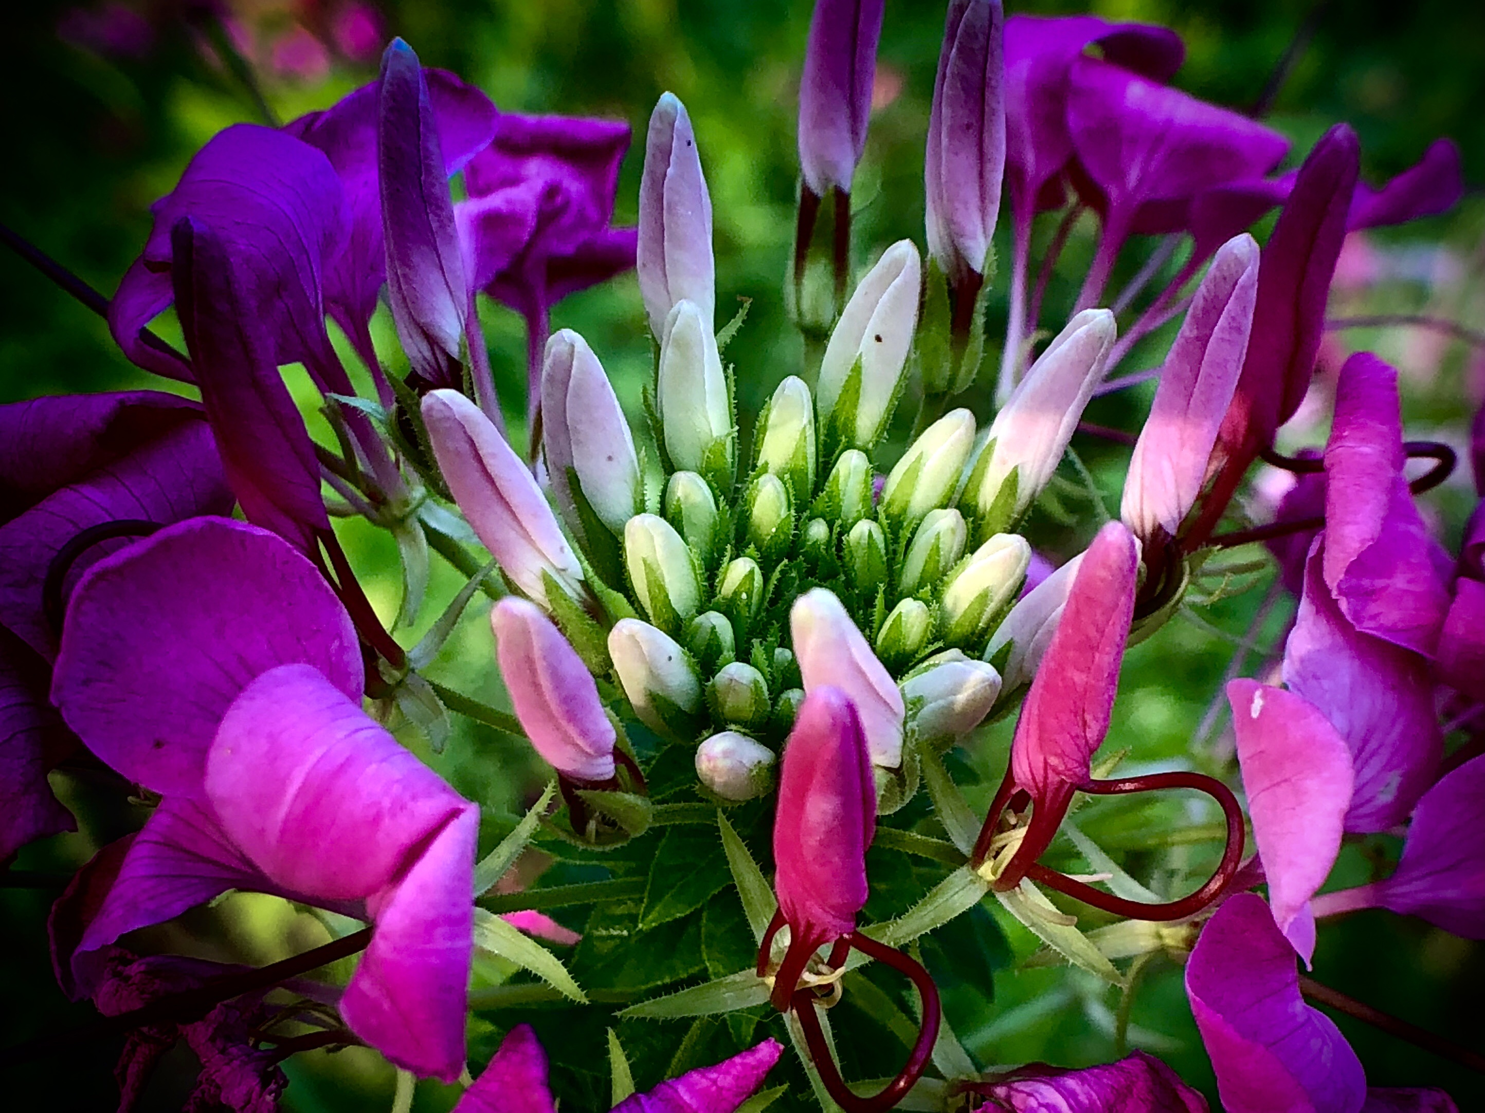
<svg viewBox="0 0 1485 1113">
<path fill-rule="evenodd" d="M 497 113 L 490 98 L 444 70 L 423 70 L 444 172 L 453 177 L 490 144 Z M 362 85 L 324 111 L 300 116 L 284 131 L 322 150 L 340 175 L 350 211 L 346 248 L 325 270 L 325 303 L 346 334 L 370 343 L 367 322 L 386 282 L 382 188 L 377 178 L 377 89 Z"/>
</svg>

